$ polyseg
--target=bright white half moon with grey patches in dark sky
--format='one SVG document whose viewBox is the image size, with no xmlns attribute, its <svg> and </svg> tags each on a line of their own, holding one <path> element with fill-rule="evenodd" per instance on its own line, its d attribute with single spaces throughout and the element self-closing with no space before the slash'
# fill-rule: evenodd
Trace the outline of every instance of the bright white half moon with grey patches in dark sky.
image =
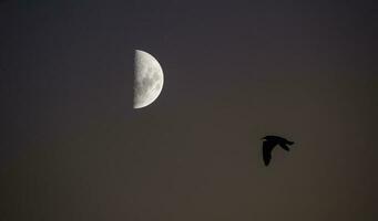
<svg viewBox="0 0 378 221">
<path fill-rule="evenodd" d="M 152 104 L 163 88 L 164 75 L 157 60 L 147 52 L 135 50 L 134 108 Z"/>
</svg>

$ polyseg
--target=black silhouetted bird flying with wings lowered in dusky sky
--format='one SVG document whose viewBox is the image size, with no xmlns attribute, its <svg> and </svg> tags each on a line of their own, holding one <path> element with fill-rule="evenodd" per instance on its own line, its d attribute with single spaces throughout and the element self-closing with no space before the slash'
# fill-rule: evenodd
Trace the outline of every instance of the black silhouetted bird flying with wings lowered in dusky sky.
<svg viewBox="0 0 378 221">
<path fill-rule="evenodd" d="M 268 166 L 272 159 L 272 150 L 279 145 L 286 151 L 289 151 L 289 147 L 287 145 L 294 145 L 294 141 L 289 141 L 283 137 L 278 136 L 265 136 L 262 139 L 263 141 L 263 158 L 265 166 Z"/>
</svg>

